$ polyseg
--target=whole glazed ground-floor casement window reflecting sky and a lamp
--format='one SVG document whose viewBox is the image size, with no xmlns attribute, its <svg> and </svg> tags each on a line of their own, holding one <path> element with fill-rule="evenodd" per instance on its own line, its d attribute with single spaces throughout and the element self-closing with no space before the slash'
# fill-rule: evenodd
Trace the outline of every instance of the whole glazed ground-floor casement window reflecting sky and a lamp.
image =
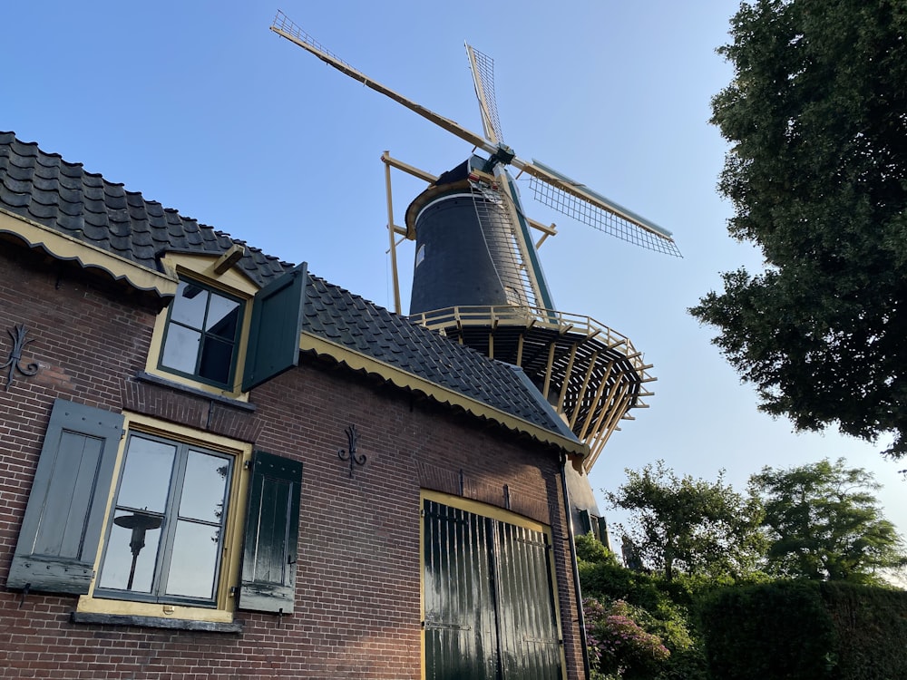
<svg viewBox="0 0 907 680">
<path fill-rule="evenodd" d="M 99 590 L 213 604 L 232 467 L 226 454 L 130 434 Z"/>
</svg>

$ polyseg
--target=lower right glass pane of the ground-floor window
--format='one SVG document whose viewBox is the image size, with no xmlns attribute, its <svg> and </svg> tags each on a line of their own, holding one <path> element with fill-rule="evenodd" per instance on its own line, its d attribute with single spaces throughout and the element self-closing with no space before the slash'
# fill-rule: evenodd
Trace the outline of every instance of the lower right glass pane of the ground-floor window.
<svg viewBox="0 0 907 680">
<path fill-rule="evenodd" d="M 220 528 L 180 520 L 171 553 L 167 595 L 214 597 L 220 552 Z"/>
</svg>

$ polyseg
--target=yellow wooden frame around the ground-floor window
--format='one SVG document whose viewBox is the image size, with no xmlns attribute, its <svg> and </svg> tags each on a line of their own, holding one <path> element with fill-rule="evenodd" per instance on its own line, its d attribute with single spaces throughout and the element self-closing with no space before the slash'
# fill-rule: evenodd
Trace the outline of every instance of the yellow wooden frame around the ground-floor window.
<svg viewBox="0 0 907 680">
<path fill-rule="evenodd" d="M 163 617 L 190 621 L 211 621 L 229 623 L 233 620 L 233 596 L 230 588 L 239 585 L 240 559 L 242 558 L 243 522 L 246 517 L 246 499 L 249 486 L 249 473 L 246 463 L 252 460 L 252 444 L 237 442 L 228 437 L 210 432 L 200 432 L 184 425 L 164 423 L 140 413 L 124 412 L 123 432 L 144 432 L 167 439 L 203 446 L 217 452 L 230 453 L 235 456 L 233 480 L 229 490 L 229 507 L 227 522 L 224 527 L 223 554 L 220 563 L 220 580 L 216 594 L 215 607 L 185 607 L 173 604 L 151 602 L 132 602 L 123 599 L 94 597 L 95 579 L 92 579 L 88 594 L 79 597 L 76 611 L 95 614 L 122 614 L 136 617 Z M 117 450 L 116 467 L 113 473 L 111 490 L 107 497 L 107 510 L 104 513 L 104 535 L 98 544 L 94 557 L 94 572 L 97 577 L 101 566 L 103 546 L 107 539 L 113 499 L 116 495 L 117 482 L 122 469 L 122 459 L 126 452 L 127 436 L 120 440 Z"/>
</svg>

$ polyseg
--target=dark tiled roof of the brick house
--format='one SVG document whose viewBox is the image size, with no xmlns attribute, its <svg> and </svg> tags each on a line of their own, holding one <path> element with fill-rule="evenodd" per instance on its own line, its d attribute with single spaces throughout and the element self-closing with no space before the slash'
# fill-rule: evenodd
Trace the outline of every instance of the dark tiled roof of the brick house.
<svg viewBox="0 0 907 680">
<path fill-rule="evenodd" d="M 160 271 L 165 251 L 222 253 L 245 246 L 238 266 L 259 285 L 292 267 L 228 234 L 184 218 L 137 191 L 104 180 L 32 142 L 0 132 L 0 208 L 77 238 L 142 267 Z M 509 364 L 453 343 L 434 331 L 310 276 L 304 330 L 573 439 Z"/>
</svg>

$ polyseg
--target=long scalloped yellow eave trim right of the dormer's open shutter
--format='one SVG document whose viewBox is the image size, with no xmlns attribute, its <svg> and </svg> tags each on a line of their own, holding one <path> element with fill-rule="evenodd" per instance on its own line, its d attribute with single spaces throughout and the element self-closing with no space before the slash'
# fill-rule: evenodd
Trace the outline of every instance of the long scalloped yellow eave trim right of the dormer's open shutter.
<svg viewBox="0 0 907 680">
<path fill-rule="evenodd" d="M 336 359 L 336 361 L 342 362 L 354 370 L 380 375 L 397 387 L 416 390 L 427 394 L 441 403 L 459 406 L 473 415 L 488 418 L 495 423 L 500 423 L 505 427 L 518 432 L 525 432 L 539 442 L 559 446 L 566 452 L 574 453 L 579 456 L 585 456 L 589 452 L 589 447 L 586 444 L 572 442 L 570 439 L 562 437 L 560 434 L 546 430 L 539 425 L 529 423 L 510 413 L 504 413 L 493 406 L 489 406 L 487 403 L 482 403 L 461 393 L 448 390 L 430 380 L 407 373 L 400 368 L 378 361 L 374 357 L 363 355 L 344 345 L 337 345 L 336 343 L 332 343 L 329 340 L 325 340 L 324 338 L 308 333 L 307 331 L 303 331 L 300 335 L 299 349 L 303 352 L 315 352 L 319 355 L 331 356 Z"/>
</svg>

